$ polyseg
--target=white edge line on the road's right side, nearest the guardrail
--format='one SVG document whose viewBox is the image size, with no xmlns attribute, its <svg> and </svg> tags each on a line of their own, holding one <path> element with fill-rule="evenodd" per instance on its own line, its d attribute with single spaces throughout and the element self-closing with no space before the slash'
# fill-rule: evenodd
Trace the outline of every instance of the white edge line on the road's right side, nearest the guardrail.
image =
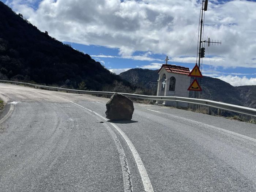
<svg viewBox="0 0 256 192">
<path fill-rule="evenodd" d="M 155 110 L 151 110 L 151 109 L 147 109 L 149 111 L 153 111 L 153 112 L 157 112 L 157 113 L 163 113 L 163 112 L 160 112 L 160 111 L 155 111 Z M 219 131 L 223 131 L 223 132 L 226 132 L 226 133 L 229 133 L 229 134 L 232 134 L 232 135 L 236 135 L 238 137 L 241 137 L 241 138 L 244 138 L 244 139 L 248 139 L 248 140 L 251 140 L 253 142 L 256 142 L 256 139 L 253 139 L 253 138 L 250 138 L 248 136 L 245 136 L 245 135 L 241 135 L 239 133 L 235 133 L 235 132 L 232 132 L 232 131 L 228 131 L 226 129 L 222 129 L 222 128 L 219 128 L 219 127 L 215 127 L 215 126 L 212 126 L 212 125 L 208 125 L 208 124 L 205 124 L 205 123 L 202 123 L 202 122 L 198 122 L 198 121 L 195 121 L 195 120 L 191 120 L 191 119 L 187 119 L 187 118 L 184 118 L 184 117 L 179 117 L 179 116 L 176 116 L 176 115 L 171 115 L 171 114 L 168 114 L 168 113 L 163 113 L 163 114 L 167 114 L 171 117 L 174 117 L 174 118 L 180 118 L 182 120 L 185 120 L 185 121 L 190 121 L 192 123 L 196 123 L 196 124 L 201 124 L 203 125 L 204 127 L 210 127 L 210 128 L 213 128 L 213 129 L 217 129 Z"/>
</svg>

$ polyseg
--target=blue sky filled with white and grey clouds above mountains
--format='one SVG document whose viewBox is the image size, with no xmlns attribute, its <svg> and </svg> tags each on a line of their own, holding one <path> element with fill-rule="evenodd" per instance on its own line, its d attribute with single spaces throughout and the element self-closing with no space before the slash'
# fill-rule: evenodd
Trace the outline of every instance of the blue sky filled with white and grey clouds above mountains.
<svg viewBox="0 0 256 192">
<path fill-rule="evenodd" d="M 119 74 L 165 63 L 193 68 L 200 6 L 197 0 L 8 0 L 41 31 L 70 44 Z M 209 0 L 203 75 L 234 86 L 256 84 L 256 2 Z M 246 21 L 246 22 L 245 22 Z"/>
</svg>

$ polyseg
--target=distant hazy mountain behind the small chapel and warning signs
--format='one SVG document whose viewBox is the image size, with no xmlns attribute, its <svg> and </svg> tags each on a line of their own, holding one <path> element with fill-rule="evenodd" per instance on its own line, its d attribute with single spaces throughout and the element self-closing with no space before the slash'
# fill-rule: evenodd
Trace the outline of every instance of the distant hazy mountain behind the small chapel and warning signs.
<svg viewBox="0 0 256 192">
<path fill-rule="evenodd" d="M 125 71 L 119 76 L 133 85 L 138 85 L 145 89 L 153 89 L 152 92 L 156 95 L 157 73 L 158 70 L 136 68 Z M 256 85 L 234 87 L 223 80 L 207 76 L 203 76 L 201 83 L 202 99 L 256 108 Z M 192 94 L 190 94 L 190 97 L 192 97 Z"/>
</svg>

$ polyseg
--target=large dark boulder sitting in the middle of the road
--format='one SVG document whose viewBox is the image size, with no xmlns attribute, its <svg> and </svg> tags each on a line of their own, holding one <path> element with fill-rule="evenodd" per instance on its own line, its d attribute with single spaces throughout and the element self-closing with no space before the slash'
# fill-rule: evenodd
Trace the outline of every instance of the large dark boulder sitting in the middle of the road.
<svg viewBox="0 0 256 192">
<path fill-rule="evenodd" d="M 112 95 L 106 104 L 106 118 L 110 120 L 131 120 L 134 111 L 133 102 L 120 93 Z"/>
</svg>

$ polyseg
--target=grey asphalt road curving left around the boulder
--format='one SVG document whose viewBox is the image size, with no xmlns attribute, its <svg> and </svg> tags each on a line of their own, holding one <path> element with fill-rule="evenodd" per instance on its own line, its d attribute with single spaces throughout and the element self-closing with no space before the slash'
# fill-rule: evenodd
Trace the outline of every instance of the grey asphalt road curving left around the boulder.
<svg viewBox="0 0 256 192">
<path fill-rule="evenodd" d="M 0 191 L 256 191 L 256 125 L 0 84 Z M 101 123 L 103 122 L 103 123 Z"/>
</svg>

